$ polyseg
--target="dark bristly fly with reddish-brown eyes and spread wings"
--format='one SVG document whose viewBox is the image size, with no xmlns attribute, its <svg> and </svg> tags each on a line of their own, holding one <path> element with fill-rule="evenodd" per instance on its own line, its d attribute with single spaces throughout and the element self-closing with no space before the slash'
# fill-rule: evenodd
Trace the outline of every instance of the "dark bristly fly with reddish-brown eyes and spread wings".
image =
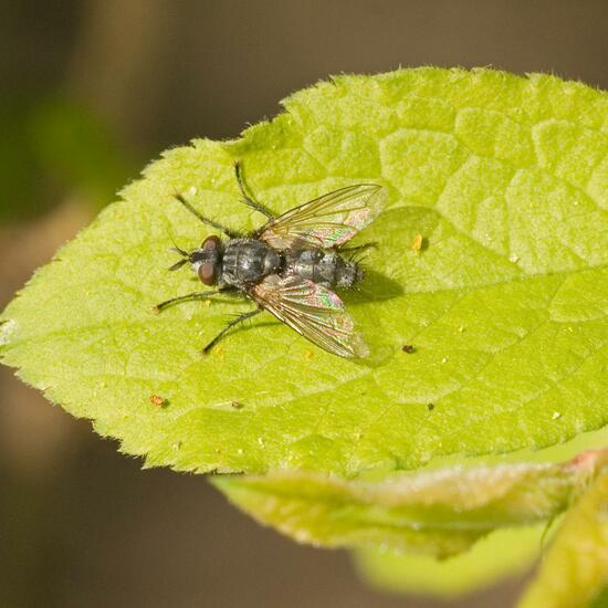
<svg viewBox="0 0 608 608">
<path fill-rule="evenodd" d="M 376 184 L 347 186 L 275 216 L 250 196 L 239 163 L 234 169 L 243 202 L 265 216 L 266 223 L 240 234 L 206 218 L 182 195 L 176 195 L 188 211 L 221 230 L 228 241 L 213 234 L 191 251 L 176 248 L 182 259 L 169 270 L 190 263 L 205 285 L 217 289 L 167 300 L 156 311 L 179 302 L 238 293 L 258 307 L 230 321 L 203 353 L 239 323 L 269 311 L 329 353 L 365 357 L 367 345 L 334 290 L 350 289 L 363 279 L 363 270 L 352 254 L 368 245 L 346 249 L 344 244 L 378 216 L 385 200 L 382 188 Z"/>
</svg>

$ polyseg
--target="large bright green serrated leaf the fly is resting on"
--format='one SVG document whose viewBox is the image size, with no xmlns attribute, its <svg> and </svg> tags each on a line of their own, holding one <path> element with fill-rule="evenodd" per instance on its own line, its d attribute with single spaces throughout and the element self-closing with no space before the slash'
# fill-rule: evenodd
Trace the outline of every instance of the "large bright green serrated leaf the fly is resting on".
<svg viewBox="0 0 608 608">
<path fill-rule="evenodd" d="M 340 76 L 285 107 L 239 140 L 150 165 L 9 305 L 4 363 L 123 451 L 197 472 L 348 476 L 606 424 L 605 93 L 426 67 Z M 369 358 L 332 356 L 270 315 L 202 358 L 227 314 L 250 305 L 151 314 L 197 289 L 186 270 L 166 272 L 169 233 L 191 248 L 208 232 L 171 193 L 233 228 L 261 224 L 239 201 L 235 158 L 275 211 L 348 184 L 386 187 L 385 213 L 357 241 L 378 243 L 367 281 L 344 294 Z"/>
</svg>

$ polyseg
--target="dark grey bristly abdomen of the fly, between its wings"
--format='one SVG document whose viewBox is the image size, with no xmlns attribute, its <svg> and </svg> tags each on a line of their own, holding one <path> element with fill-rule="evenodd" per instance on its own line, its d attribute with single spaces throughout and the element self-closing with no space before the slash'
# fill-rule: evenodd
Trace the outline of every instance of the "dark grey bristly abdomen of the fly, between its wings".
<svg viewBox="0 0 608 608">
<path fill-rule="evenodd" d="M 285 253 L 286 270 L 303 279 L 331 286 L 352 287 L 363 277 L 355 262 L 333 249 L 300 249 Z"/>
</svg>

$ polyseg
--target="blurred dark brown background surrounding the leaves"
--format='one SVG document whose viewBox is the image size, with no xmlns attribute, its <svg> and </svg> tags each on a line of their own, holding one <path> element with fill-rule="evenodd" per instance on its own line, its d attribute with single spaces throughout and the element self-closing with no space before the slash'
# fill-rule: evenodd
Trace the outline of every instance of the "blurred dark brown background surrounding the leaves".
<svg viewBox="0 0 608 608">
<path fill-rule="evenodd" d="M 605 0 L 3 0 L 0 307 L 143 166 L 340 72 L 433 64 L 608 88 Z M 0 368 L 0 607 L 422 607 L 202 478 L 140 471 Z M 451 606 L 512 606 L 526 577 Z"/>
</svg>

